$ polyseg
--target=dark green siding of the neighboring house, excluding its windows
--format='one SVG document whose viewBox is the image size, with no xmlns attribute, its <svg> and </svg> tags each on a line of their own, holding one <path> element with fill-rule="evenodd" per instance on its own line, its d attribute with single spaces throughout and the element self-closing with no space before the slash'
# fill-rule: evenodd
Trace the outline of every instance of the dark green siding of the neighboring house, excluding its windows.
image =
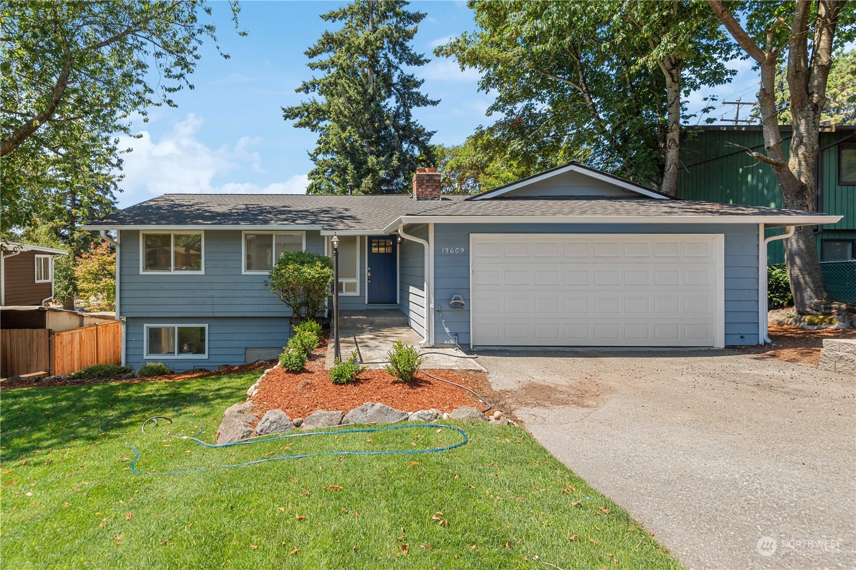
<svg viewBox="0 0 856 570">
<path fill-rule="evenodd" d="M 823 148 L 846 138 L 852 131 L 821 132 Z M 785 153 L 788 153 L 792 133 L 782 132 Z M 743 148 L 745 147 L 745 148 Z M 764 150 L 764 133 L 760 130 L 691 132 L 681 143 L 681 173 L 678 177 L 678 197 L 686 200 L 745 204 L 782 208 L 782 191 L 769 164 L 746 155 L 746 149 Z M 837 224 L 824 226 L 820 238 L 850 238 L 856 230 L 856 186 L 838 184 L 838 147 L 823 151 L 822 175 L 818 180 L 823 196 L 818 211 L 844 216 Z M 767 236 L 782 230 L 768 230 Z M 784 243 L 770 243 L 767 262 L 784 262 Z"/>
</svg>

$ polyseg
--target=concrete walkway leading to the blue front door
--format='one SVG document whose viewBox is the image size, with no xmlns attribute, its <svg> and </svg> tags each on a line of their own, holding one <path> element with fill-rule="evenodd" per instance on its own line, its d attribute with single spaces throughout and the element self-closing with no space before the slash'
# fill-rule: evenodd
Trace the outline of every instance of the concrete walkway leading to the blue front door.
<svg viewBox="0 0 856 570">
<path fill-rule="evenodd" d="M 418 332 L 407 326 L 404 314 L 395 309 L 342 311 L 339 321 L 342 329 L 339 333 L 342 360 L 348 360 L 351 352 L 356 350 L 361 356 L 363 366 L 368 368 L 383 368 L 386 365 L 386 355 L 396 340 L 417 348 L 422 340 Z M 484 370 L 474 359 L 456 357 L 465 356 L 460 350 L 426 348 L 420 352 L 425 353 L 425 363 L 422 367 L 426 369 Z M 333 361 L 333 342 L 330 341 L 324 367 L 329 369 L 333 366 Z"/>
</svg>

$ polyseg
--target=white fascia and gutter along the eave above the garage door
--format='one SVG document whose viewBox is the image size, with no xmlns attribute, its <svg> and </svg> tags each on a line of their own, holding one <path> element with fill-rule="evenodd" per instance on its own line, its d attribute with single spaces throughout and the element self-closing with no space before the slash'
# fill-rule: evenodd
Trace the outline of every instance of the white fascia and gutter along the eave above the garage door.
<svg viewBox="0 0 856 570">
<path fill-rule="evenodd" d="M 767 227 L 823 226 L 840 215 L 405 215 L 383 230 L 401 224 L 758 224 Z"/>
</svg>

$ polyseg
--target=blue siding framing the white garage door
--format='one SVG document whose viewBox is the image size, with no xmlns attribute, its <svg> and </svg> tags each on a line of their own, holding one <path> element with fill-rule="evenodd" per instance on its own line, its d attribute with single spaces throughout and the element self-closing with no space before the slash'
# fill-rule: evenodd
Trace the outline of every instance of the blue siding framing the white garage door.
<svg viewBox="0 0 856 570">
<path fill-rule="evenodd" d="M 470 343 L 470 232 L 473 233 L 723 233 L 725 234 L 725 344 L 758 344 L 758 226 L 752 224 L 437 224 L 434 227 L 435 344 Z M 443 248 L 463 253 L 442 253 Z M 461 295 L 467 309 L 451 310 Z M 449 309 L 449 310 L 447 310 Z M 766 308 L 764 308 L 766 309 Z M 443 321 L 445 327 L 443 326 Z M 444 331 L 449 329 L 449 333 Z"/>
</svg>

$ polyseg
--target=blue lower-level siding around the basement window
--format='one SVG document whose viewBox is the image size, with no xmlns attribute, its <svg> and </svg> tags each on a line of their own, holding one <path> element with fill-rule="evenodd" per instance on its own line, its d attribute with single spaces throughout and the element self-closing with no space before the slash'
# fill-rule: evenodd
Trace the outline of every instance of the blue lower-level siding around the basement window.
<svg viewBox="0 0 856 570">
<path fill-rule="evenodd" d="M 208 358 L 144 356 L 144 325 L 208 325 Z M 286 317 L 131 317 L 126 325 L 126 356 L 134 369 L 146 362 L 163 362 L 176 371 L 243 364 L 247 349 L 276 349 L 288 342 Z"/>
</svg>

